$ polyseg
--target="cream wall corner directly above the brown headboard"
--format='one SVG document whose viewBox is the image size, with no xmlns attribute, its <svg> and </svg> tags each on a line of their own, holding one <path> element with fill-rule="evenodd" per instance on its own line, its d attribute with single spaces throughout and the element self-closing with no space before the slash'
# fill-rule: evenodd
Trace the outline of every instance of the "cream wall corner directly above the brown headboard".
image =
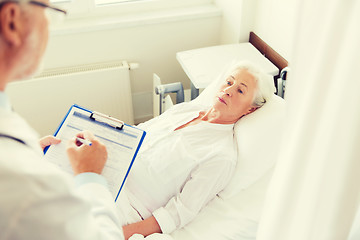
<svg viewBox="0 0 360 240">
<path fill-rule="evenodd" d="M 255 32 L 288 61 L 296 34 L 296 0 L 216 0 L 223 11 L 221 44 L 247 42 Z"/>
</svg>

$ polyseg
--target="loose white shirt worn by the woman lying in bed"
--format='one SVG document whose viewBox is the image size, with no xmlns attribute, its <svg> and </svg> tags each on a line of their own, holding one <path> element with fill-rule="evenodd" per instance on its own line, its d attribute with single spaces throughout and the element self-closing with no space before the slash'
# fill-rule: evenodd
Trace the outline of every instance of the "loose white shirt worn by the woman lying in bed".
<svg viewBox="0 0 360 240">
<path fill-rule="evenodd" d="M 147 135 L 125 191 L 141 217 L 153 215 L 163 233 L 194 219 L 224 189 L 235 168 L 233 124 L 200 122 L 174 131 L 201 110 L 178 104 L 139 125 Z"/>
</svg>

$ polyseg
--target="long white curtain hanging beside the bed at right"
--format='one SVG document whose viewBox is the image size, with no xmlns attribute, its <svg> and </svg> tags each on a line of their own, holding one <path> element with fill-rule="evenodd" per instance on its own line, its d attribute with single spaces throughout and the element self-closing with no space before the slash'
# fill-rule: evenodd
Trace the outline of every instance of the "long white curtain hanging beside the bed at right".
<svg viewBox="0 0 360 240">
<path fill-rule="evenodd" d="M 283 149 L 257 239 L 359 239 L 349 232 L 360 193 L 360 0 L 298 6 Z"/>
</svg>

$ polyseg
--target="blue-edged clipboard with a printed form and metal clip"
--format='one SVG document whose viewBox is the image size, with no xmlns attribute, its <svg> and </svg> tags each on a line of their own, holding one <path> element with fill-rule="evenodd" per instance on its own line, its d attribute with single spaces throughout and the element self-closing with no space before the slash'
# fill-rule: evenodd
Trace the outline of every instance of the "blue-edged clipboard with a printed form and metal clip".
<svg viewBox="0 0 360 240">
<path fill-rule="evenodd" d="M 61 143 L 46 148 L 45 159 L 73 175 L 66 154 L 67 142 L 83 130 L 91 131 L 107 148 L 108 159 L 101 175 L 107 180 L 116 201 L 146 132 L 116 118 L 74 104 L 54 133 L 54 136 L 61 139 Z"/>
</svg>

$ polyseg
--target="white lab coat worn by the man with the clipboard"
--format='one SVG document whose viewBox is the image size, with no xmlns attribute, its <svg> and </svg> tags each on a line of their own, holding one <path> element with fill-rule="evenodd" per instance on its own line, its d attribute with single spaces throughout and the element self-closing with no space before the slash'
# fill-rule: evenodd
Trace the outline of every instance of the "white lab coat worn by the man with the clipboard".
<svg viewBox="0 0 360 240">
<path fill-rule="evenodd" d="M 1 107 L 0 133 L 26 143 L 0 137 L 0 240 L 123 239 L 107 187 L 75 189 L 72 177 L 42 158 L 37 134 Z"/>
</svg>

